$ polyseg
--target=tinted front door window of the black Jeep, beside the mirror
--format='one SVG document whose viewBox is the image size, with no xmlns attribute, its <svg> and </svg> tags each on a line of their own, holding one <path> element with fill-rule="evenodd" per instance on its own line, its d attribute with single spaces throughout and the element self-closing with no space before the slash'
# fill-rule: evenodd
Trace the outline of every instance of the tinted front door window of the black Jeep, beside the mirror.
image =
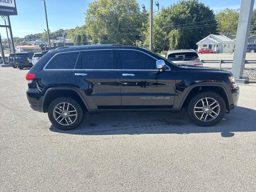
<svg viewBox="0 0 256 192">
<path fill-rule="evenodd" d="M 156 66 L 156 59 L 133 50 L 119 50 L 123 69 L 152 70 Z"/>
</svg>

